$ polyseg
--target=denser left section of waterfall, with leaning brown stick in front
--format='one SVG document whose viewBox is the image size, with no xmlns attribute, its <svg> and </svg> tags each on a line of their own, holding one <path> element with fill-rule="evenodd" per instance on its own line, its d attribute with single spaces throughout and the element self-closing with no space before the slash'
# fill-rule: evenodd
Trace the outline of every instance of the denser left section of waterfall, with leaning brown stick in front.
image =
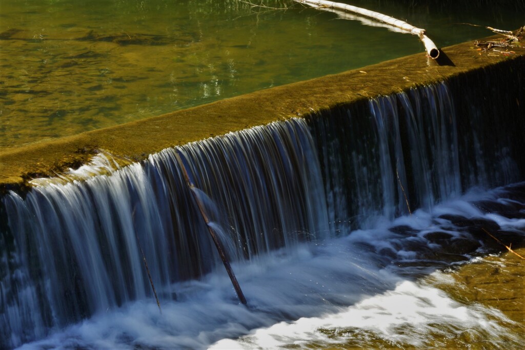
<svg viewBox="0 0 525 350">
<path fill-rule="evenodd" d="M 211 271 L 218 256 L 175 161 L 183 156 L 229 259 L 330 236 L 304 120 L 154 154 L 110 175 L 2 199 L 2 339 L 9 345 Z M 9 337 L 11 337 L 9 339 Z"/>
</svg>

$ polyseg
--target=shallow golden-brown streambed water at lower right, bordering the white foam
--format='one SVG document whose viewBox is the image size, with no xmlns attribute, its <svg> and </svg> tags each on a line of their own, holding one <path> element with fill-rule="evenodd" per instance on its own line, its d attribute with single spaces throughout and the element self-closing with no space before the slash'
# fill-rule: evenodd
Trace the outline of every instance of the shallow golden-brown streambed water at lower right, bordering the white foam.
<svg viewBox="0 0 525 350">
<path fill-rule="evenodd" d="M 516 250 L 525 254 L 524 248 Z M 409 322 L 398 325 L 398 337 L 385 337 L 373 330 L 356 327 L 319 328 L 325 342 L 303 344 L 310 349 L 496 349 L 519 348 L 525 331 L 525 260 L 508 253 L 492 254 L 464 264 L 448 272 L 432 274 L 419 281 L 424 288 L 438 288 L 447 298 L 457 301 L 458 309 L 484 310 L 487 328 L 497 324 L 505 333 L 498 340 L 487 330 L 461 329 L 457 326 L 430 324 L 430 332 L 411 327 Z M 486 308 L 486 309 L 485 309 Z M 463 310 L 461 310 L 463 309 Z M 387 313 L 387 311 L 385 312 Z M 486 332 L 485 332 L 486 331 Z M 414 333 L 421 332 L 425 340 L 418 346 L 410 342 Z M 407 335 L 407 336 L 404 336 Z M 292 347 L 292 346 L 290 346 Z"/>
</svg>

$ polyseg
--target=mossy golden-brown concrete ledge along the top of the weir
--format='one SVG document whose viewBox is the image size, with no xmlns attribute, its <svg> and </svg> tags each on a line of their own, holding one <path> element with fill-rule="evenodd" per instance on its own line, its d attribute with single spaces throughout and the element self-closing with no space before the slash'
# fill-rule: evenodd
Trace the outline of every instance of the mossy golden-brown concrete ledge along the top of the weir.
<svg viewBox="0 0 525 350">
<path fill-rule="evenodd" d="M 444 48 L 440 62 L 421 53 L 111 128 L 0 150 L 0 193 L 23 189 L 31 178 L 75 168 L 100 150 L 140 161 L 166 147 L 406 91 L 509 60 L 525 60 L 525 48 L 513 50 L 512 54 L 481 52 L 468 42 Z"/>
</svg>

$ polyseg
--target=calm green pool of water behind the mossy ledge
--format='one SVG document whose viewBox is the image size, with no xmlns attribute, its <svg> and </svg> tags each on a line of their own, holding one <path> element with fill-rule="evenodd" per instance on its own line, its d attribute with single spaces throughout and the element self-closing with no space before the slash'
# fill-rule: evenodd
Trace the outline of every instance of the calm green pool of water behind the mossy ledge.
<svg viewBox="0 0 525 350">
<path fill-rule="evenodd" d="M 438 46 L 525 23 L 512 9 L 352 4 L 426 28 Z M 2 0 L 0 147 L 104 128 L 416 52 L 417 38 L 290 1 Z M 249 113 L 249 111 L 247 111 Z"/>
</svg>

